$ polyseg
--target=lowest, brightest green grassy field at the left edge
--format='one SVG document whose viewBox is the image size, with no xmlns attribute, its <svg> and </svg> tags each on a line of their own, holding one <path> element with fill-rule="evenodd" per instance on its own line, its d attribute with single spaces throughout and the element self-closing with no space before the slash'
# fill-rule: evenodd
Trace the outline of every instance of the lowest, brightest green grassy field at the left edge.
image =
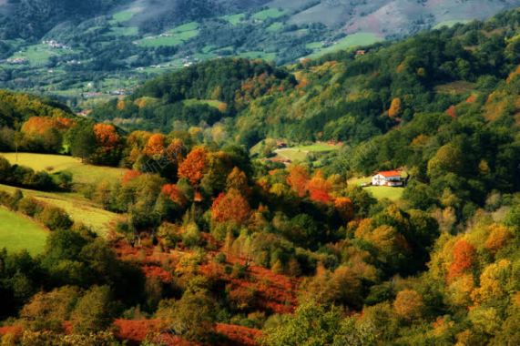
<svg viewBox="0 0 520 346">
<path fill-rule="evenodd" d="M 9 251 L 26 249 L 36 255 L 45 247 L 47 231 L 35 221 L 0 208 L 0 248 Z"/>
</svg>

